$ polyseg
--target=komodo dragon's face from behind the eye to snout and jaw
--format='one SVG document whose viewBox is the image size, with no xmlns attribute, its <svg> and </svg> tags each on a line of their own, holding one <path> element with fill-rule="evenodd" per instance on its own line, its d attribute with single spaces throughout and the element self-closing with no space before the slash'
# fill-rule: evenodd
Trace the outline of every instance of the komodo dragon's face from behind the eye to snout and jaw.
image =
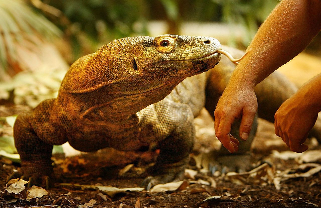
<svg viewBox="0 0 321 208">
<path fill-rule="evenodd" d="M 160 35 L 150 43 L 136 44 L 134 60 L 139 72 L 162 85 L 173 78 L 185 79 L 213 68 L 221 58 L 217 53 L 220 48 L 213 37 Z"/>
</svg>

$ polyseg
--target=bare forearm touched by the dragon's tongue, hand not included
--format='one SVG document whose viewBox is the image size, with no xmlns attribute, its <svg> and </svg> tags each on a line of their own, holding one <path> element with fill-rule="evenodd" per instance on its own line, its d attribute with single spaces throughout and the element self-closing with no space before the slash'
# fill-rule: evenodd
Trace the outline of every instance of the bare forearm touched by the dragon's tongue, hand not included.
<svg viewBox="0 0 321 208">
<path fill-rule="evenodd" d="M 283 0 L 259 28 L 230 83 L 256 86 L 299 54 L 321 29 L 320 0 Z"/>
</svg>

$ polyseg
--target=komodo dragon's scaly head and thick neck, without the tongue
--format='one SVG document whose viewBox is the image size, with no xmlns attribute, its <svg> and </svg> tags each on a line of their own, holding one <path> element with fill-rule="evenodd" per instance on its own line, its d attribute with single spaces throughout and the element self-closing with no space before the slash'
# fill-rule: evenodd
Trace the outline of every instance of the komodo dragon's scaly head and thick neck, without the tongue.
<svg viewBox="0 0 321 208">
<path fill-rule="evenodd" d="M 108 103 L 124 106 L 130 100 L 140 100 L 143 109 L 163 99 L 185 78 L 213 68 L 220 60 L 220 47 L 217 39 L 202 36 L 117 39 L 74 62 L 60 93 L 91 94 L 91 100 L 85 101 L 91 109 Z M 93 98 L 97 102 L 92 103 Z"/>
</svg>

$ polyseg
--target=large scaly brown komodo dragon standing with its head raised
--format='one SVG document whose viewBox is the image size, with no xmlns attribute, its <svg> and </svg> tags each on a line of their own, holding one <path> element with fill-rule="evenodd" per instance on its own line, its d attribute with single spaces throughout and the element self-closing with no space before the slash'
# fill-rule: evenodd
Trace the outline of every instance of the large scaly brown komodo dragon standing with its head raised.
<svg viewBox="0 0 321 208">
<path fill-rule="evenodd" d="M 220 48 L 212 37 L 127 37 L 78 59 L 56 99 L 17 117 L 13 133 L 22 177 L 48 186 L 53 145 L 67 141 L 85 152 L 108 146 L 139 150 L 156 142 L 160 154 L 144 186 L 183 179 L 194 144 L 193 119 L 204 106 L 213 116 L 234 69 L 225 57 L 214 67 Z M 295 91 L 279 74 L 257 87 L 259 115 L 270 121 Z M 251 142 L 244 144 L 241 153 Z"/>
</svg>

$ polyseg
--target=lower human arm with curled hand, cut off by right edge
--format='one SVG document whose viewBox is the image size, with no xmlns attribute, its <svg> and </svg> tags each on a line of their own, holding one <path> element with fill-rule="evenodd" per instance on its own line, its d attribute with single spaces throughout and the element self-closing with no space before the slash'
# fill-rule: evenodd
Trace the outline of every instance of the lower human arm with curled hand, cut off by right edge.
<svg viewBox="0 0 321 208">
<path fill-rule="evenodd" d="M 275 113 L 275 134 L 294 152 L 304 152 L 303 144 L 321 111 L 321 74 L 318 74 L 297 93 L 286 100 Z"/>
</svg>

